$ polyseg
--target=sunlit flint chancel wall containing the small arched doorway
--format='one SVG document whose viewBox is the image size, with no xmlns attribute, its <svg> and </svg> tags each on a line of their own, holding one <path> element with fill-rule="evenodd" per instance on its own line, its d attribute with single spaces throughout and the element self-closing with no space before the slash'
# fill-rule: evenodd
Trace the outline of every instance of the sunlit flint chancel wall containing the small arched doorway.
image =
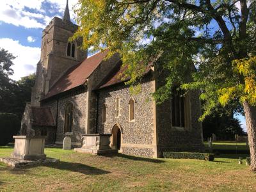
<svg viewBox="0 0 256 192">
<path fill-rule="evenodd" d="M 141 92 L 131 95 L 129 86 L 118 84 L 99 90 L 98 132 L 110 133 L 115 124 L 122 127 L 122 143 L 152 145 L 154 132 L 154 111 L 152 97 L 152 77 L 145 77 L 141 83 Z M 120 115 L 115 116 L 116 98 L 120 99 Z M 129 121 L 129 100 L 135 100 L 135 121 Z M 106 104 L 106 123 L 102 123 L 102 106 Z M 122 147 L 124 154 L 152 157 L 148 148 Z"/>
</svg>

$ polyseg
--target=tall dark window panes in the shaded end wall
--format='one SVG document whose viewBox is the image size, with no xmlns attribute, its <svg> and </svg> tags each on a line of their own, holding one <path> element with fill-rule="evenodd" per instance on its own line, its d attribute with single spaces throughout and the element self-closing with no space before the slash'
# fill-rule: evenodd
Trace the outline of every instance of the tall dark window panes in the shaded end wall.
<svg viewBox="0 0 256 192">
<path fill-rule="evenodd" d="M 184 96 L 177 91 L 177 87 L 172 90 L 172 126 L 185 127 Z"/>
</svg>

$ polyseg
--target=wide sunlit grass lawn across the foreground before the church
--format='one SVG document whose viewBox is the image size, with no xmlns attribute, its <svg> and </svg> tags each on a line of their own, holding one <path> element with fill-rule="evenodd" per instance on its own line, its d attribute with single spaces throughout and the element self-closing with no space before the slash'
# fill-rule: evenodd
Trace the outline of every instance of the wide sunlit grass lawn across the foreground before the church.
<svg viewBox="0 0 256 192">
<path fill-rule="evenodd" d="M 12 147 L 0 147 L 0 157 Z M 11 168 L 0 163 L 0 191 L 256 191 L 256 173 L 238 164 L 237 155 L 214 162 L 92 156 L 46 148 L 60 163 Z M 241 155 L 246 157 L 246 155 Z"/>
</svg>

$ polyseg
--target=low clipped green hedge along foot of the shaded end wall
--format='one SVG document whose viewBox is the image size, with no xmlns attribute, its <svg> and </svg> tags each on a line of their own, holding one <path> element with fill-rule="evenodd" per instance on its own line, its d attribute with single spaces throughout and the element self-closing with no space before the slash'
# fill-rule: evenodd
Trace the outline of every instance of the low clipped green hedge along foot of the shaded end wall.
<svg viewBox="0 0 256 192">
<path fill-rule="evenodd" d="M 164 158 L 171 159 L 201 159 L 205 161 L 213 161 L 214 154 L 193 153 L 193 152 L 163 152 Z"/>
</svg>

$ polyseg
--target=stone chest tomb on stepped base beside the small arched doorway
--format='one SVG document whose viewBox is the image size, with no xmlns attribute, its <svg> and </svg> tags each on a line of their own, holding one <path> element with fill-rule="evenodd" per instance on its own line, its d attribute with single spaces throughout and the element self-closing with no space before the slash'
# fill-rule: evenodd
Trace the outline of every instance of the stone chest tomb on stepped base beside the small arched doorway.
<svg viewBox="0 0 256 192">
<path fill-rule="evenodd" d="M 116 153 L 118 150 L 112 149 L 110 145 L 111 134 L 82 134 L 83 145 L 81 148 L 74 148 L 76 152 L 90 154 Z"/>
</svg>

